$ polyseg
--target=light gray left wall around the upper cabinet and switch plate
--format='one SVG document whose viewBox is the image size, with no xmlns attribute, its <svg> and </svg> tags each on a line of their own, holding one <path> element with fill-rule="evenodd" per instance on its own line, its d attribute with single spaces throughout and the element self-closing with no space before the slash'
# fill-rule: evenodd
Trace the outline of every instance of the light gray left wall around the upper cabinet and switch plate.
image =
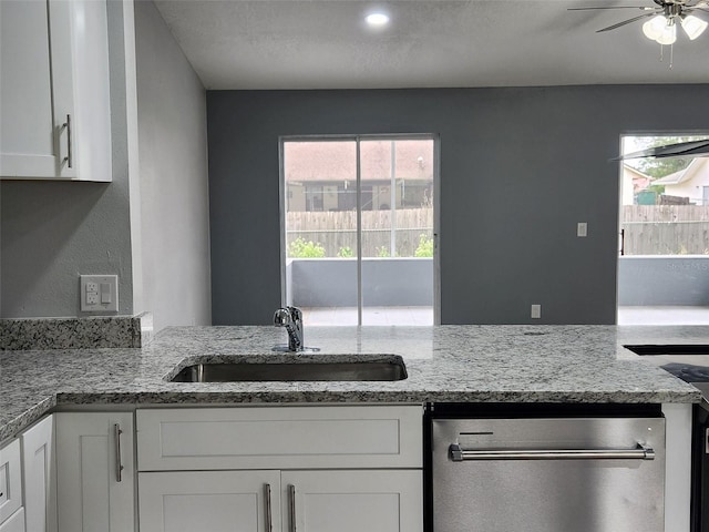
<svg viewBox="0 0 709 532">
<path fill-rule="evenodd" d="M 206 325 L 205 90 L 152 2 L 109 27 L 113 182 L 0 182 L 0 317 L 82 316 L 79 275 L 117 274 L 121 315 Z"/>
</svg>

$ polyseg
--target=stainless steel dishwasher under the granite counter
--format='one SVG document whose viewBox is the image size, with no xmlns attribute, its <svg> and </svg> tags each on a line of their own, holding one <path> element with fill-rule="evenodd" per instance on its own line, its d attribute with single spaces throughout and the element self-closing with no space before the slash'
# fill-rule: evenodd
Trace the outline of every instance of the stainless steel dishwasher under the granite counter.
<svg viewBox="0 0 709 532">
<path fill-rule="evenodd" d="M 428 528 L 662 532 L 665 419 L 659 409 L 634 416 L 434 412 Z"/>
</svg>

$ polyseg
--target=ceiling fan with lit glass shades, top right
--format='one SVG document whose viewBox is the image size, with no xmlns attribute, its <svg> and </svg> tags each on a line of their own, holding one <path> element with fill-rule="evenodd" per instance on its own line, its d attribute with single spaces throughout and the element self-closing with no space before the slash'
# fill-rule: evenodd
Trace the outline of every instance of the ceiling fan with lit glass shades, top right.
<svg viewBox="0 0 709 532">
<path fill-rule="evenodd" d="M 615 30 L 638 20 L 649 19 L 643 24 L 643 33 L 648 39 L 662 45 L 674 44 L 677 40 L 677 25 L 690 40 L 697 39 L 709 25 L 709 22 L 692 14 L 693 12 L 709 13 L 709 0 L 653 0 L 655 6 L 599 6 L 586 8 L 568 8 L 569 11 L 587 11 L 597 9 L 639 9 L 645 11 L 638 17 L 617 22 L 596 33 Z"/>
</svg>

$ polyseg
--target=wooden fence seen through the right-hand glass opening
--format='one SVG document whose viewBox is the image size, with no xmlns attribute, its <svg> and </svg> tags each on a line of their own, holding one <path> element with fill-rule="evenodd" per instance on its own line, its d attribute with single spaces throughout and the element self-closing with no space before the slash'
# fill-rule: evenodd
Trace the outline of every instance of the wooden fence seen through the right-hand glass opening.
<svg viewBox="0 0 709 532">
<path fill-rule="evenodd" d="M 626 255 L 709 254 L 709 206 L 624 205 Z"/>
</svg>

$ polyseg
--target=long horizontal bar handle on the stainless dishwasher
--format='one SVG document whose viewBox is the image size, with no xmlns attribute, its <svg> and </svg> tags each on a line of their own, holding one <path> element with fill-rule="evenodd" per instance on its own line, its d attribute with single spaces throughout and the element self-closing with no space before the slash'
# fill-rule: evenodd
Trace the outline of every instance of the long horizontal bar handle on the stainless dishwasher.
<svg viewBox="0 0 709 532">
<path fill-rule="evenodd" d="M 655 451 L 641 443 L 636 449 L 525 449 L 473 450 L 458 443 L 449 448 L 451 460 L 655 460 Z"/>
</svg>

